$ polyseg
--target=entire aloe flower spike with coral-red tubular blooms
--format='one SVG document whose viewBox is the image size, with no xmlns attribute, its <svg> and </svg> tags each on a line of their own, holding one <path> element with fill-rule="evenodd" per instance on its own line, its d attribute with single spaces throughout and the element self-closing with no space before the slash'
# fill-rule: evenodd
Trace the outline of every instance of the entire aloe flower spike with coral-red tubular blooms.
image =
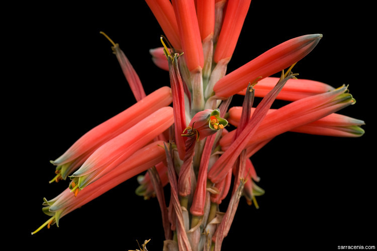
<svg viewBox="0 0 377 251">
<path fill-rule="evenodd" d="M 54 179 L 70 182 L 58 196 L 45 199 L 43 211 L 51 218 L 35 232 L 58 225 L 67 213 L 136 176 L 136 194 L 158 201 L 163 250 L 221 250 L 242 197 L 264 210 L 256 199 L 264 194 L 260 163 L 252 160 L 256 152 L 287 132 L 361 137 L 364 121 L 339 113 L 355 104 L 348 86 L 301 79 L 296 72 L 321 34 L 290 38 L 227 72 L 250 0 L 145 2 L 163 32 L 156 39 L 161 46 L 149 49 L 151 60 L 170 81 L 156 79 L 166 86 L 146 95 L 119 44 L 101 32 L 137 102 L 53 161 Z M 243 99 L 242 106 L 234 105 L 233 97 Z M 276 99 L 284 104 L 274 107 Z M 253 230 L 244 231 L 252 236 Z"/>
</svg>

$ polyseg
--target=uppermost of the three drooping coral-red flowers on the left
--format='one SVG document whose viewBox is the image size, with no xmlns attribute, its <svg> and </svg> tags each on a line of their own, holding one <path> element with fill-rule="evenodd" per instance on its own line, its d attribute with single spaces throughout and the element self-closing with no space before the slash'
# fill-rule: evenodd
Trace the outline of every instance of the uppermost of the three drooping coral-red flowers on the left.
<svg viewBox="0 0 377 251">
<path fill-rule="evenodd" d="M 172 102 L 170 87 L 163 86 L 114 117 L 99 124 L 79 138 L 63 155 L 54 161 L 62 179 L 76 170 L 97 148 L 134 126 L 141 119 Z"/>
</svg>

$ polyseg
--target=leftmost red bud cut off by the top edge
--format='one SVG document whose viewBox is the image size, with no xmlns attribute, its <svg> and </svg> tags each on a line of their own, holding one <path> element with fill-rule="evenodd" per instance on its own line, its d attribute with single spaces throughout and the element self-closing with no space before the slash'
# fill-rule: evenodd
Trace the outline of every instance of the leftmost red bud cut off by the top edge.
<svg viewBox="0 0 377 251">
<path fill-rule="evenodd" d="M 145 0 L 173 48 L 182 48 L 173 6 L 169 0 Z"/>
</svg>

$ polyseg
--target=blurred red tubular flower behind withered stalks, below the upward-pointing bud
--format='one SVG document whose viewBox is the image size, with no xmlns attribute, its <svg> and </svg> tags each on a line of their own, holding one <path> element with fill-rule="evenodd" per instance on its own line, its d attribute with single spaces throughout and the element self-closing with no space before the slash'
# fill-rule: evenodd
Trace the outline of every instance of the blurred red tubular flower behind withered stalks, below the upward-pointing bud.
<svg viewBox="0 0 377 251">
<path fill-rule="evenodd" d="M 273 86 L 275 86 L 278 80 L 279 78 L 277 77 L 266 77 L 258 81 L 258 83 L 254 86 L 255 96 L 264 97 L 270 90 L 272 90 Z M 334 89 L 334 87 L 328 84 L 314 80 L 290 79 L 281 89 L 276 99 L 295 101 Z M 238 92 L 238 94 L 245 95 L 245 90 Z"/>
</svg>

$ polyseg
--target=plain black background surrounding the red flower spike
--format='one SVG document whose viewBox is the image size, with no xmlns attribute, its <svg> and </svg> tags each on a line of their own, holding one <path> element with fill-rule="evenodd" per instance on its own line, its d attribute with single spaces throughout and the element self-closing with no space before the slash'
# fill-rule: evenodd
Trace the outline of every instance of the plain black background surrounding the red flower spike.
<svg viewBox="0 0 377 251">
<path fill-rule="evenodd" d="M 321 33 L 318 46 L 294 72 L 334 87 L 349 85 L 357 102 L 339 113 L 363 119 L 366 133 L 356 139 L 287 133 L 255 154 L 258 185 L 266 193 L 257 198 L 259 209 L 241 198 L 224 250 L 376 244 L 368 8 L 303 2 L 252 1 L 228 72 L 288 39 Z M 161 30 L 146 3 L 29 4 L 9 10 L 15 14 L 6 26 L 17 36 L 3 39 L 13 59 L 5 68 L 11 75 L 7 86 L 14 87 L 3 100 L 11 97 L 3 105 L 5 138 L 11 140 L 4 156 L 3 179 L 10 184 L 3 189 L 3 208 L 7 233 L 17 240 L 12 243 L 128 250 L 137 248 L 136 240 L 151 238 L 148 250 L 162 250 L 157 200 L 134 194 L 136 178 L 69 213 L 59 228 L 30 235 L 48 219 L 41 211 L 43 197 L 55 197 L 67 184 L 48 184 L 54 175 L 49 161 L 135 102 L 100 31 L 120 44 L 147 94 L 169 85 L 167 72 L 154 66 L 148 53 L 161 46 Z"/>
</svg>

